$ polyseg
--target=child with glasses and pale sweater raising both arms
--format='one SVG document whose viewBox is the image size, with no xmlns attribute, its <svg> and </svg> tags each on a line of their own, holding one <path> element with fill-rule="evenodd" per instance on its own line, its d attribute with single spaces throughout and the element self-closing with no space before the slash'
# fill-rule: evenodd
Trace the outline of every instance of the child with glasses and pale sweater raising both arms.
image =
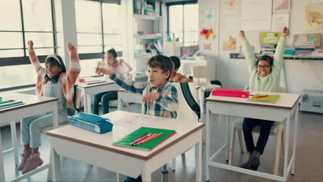
<svg viewBox="0 0 323 182">
<path fill-rule="evenodd" d="M 283 52 L 286 43 L 286 37 L 289 35 L 289 29 L 282 30 L 282 36 L 275 50 L 274 58 L 263 55 L 259 59 L 255 58 L 255 52 L 248 43 L 244 31 L 239 32 L 242 49 L 248 64 L 248 70 L 251 74 L 249 79 L 249 90 L 264 92 L 280 92 L 280 72 L 284 62 Z M 260 165 L 260 155 L 263 154 L 264 148 L 268 141 L 271 126 L 275 121 L 266 121 L 263 119 L 245 118 L 243 123 L 244 141 L 246 150 L 249 152 L 249 159 L 241 165 L 242 168 L 257 170 Z M 260 125 L 260 136 L 257 144 L 253 143 L 253 128 Z"/>
</svg>

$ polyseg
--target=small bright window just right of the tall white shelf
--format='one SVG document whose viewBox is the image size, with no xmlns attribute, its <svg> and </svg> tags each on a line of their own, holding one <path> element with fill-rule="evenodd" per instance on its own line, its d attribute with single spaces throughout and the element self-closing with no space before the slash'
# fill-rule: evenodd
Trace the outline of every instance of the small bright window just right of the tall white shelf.
<svg viewBox="0 0 323 182">
<path fill-rule="evenodd" d="M 168 3 L 168 35 L 179 38 L 184 46 L 198 44 L 198 5 L 197 3 Z"/>
</svg>

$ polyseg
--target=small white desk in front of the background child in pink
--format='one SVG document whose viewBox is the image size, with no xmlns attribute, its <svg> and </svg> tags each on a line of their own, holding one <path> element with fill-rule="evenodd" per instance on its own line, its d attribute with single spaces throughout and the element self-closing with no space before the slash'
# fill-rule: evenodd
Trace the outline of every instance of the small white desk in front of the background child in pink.
<svg viewBox="0 0 323 182">
<path fill-rule="evenodd" d="M 97 80 L 105 80 L 104 77 L 97 77 Z M 105 83 L 97 83 L 92 85 L 86 85 L 83 83 L 76 83 L 77 86 L 81 89 L 81 92 L 83 93 L 83 99 L 84 99 L 84 112 L 86 113 L 92 113 L 92 98 L 93 95 L 101 93 L 101 92 L 108 92 L 112 90 L 119 89 L 119 85 L 115 83 L 115 81 L 107 80 Z"/>
</svg>

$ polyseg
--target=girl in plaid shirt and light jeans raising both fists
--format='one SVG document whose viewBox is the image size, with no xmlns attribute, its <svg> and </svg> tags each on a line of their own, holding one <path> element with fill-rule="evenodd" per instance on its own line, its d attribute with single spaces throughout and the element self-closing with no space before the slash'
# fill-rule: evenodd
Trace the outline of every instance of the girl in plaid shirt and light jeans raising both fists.
<svg viewBox="0 0 323 182">
<path fill-rule="evenodd" d="M 71 43 L 67 44 L 70 54 L 70 69 L 66 72 L 63 60 L 58 55 L 49 55 L 45 60 L 45 68 L 39 64 L 39 60 L 33 49 L 34 43 L 28 41 L 28 53 L 30 62 L 37 72 L 36 94 L 44 97 L 56 97 L 59 123 L 68 121 L 67 107 L 73 108 L 73 88 L 80 72 L 77 50 Z M 41 146 L 41 128 L 52 125 L 53 114 L 46 112 L 21 120 L 21 143 L 23 154 L 17 170 L 23 174 L 34 170 L 43 163 L 39 154 Z"/>
</svg>

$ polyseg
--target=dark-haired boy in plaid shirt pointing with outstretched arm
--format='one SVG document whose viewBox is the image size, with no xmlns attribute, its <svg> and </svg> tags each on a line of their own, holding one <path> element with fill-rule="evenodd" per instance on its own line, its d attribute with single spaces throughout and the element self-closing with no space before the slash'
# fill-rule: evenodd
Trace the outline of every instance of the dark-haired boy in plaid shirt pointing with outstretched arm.
<svg viewBox="0 0 323 182">
<path fill-rule="evenodd" d="M 158 54 L 151 57 L 146 62 L 148 66 L 148 82 L 138 83 L 127 81 L 119 74 L 106 68 L 97 67 L 97 74 L 108 74 L 121 88 L 128 91 L 142 94 L 143 114 L 157 117 L 176 118 L 178 110 L 177 89 L 169 81 L 173 63 L 169 57 Z M 127 177 L 129 181 L 141 181 L 141 176 L 137 179 Z"/>
</svg>

